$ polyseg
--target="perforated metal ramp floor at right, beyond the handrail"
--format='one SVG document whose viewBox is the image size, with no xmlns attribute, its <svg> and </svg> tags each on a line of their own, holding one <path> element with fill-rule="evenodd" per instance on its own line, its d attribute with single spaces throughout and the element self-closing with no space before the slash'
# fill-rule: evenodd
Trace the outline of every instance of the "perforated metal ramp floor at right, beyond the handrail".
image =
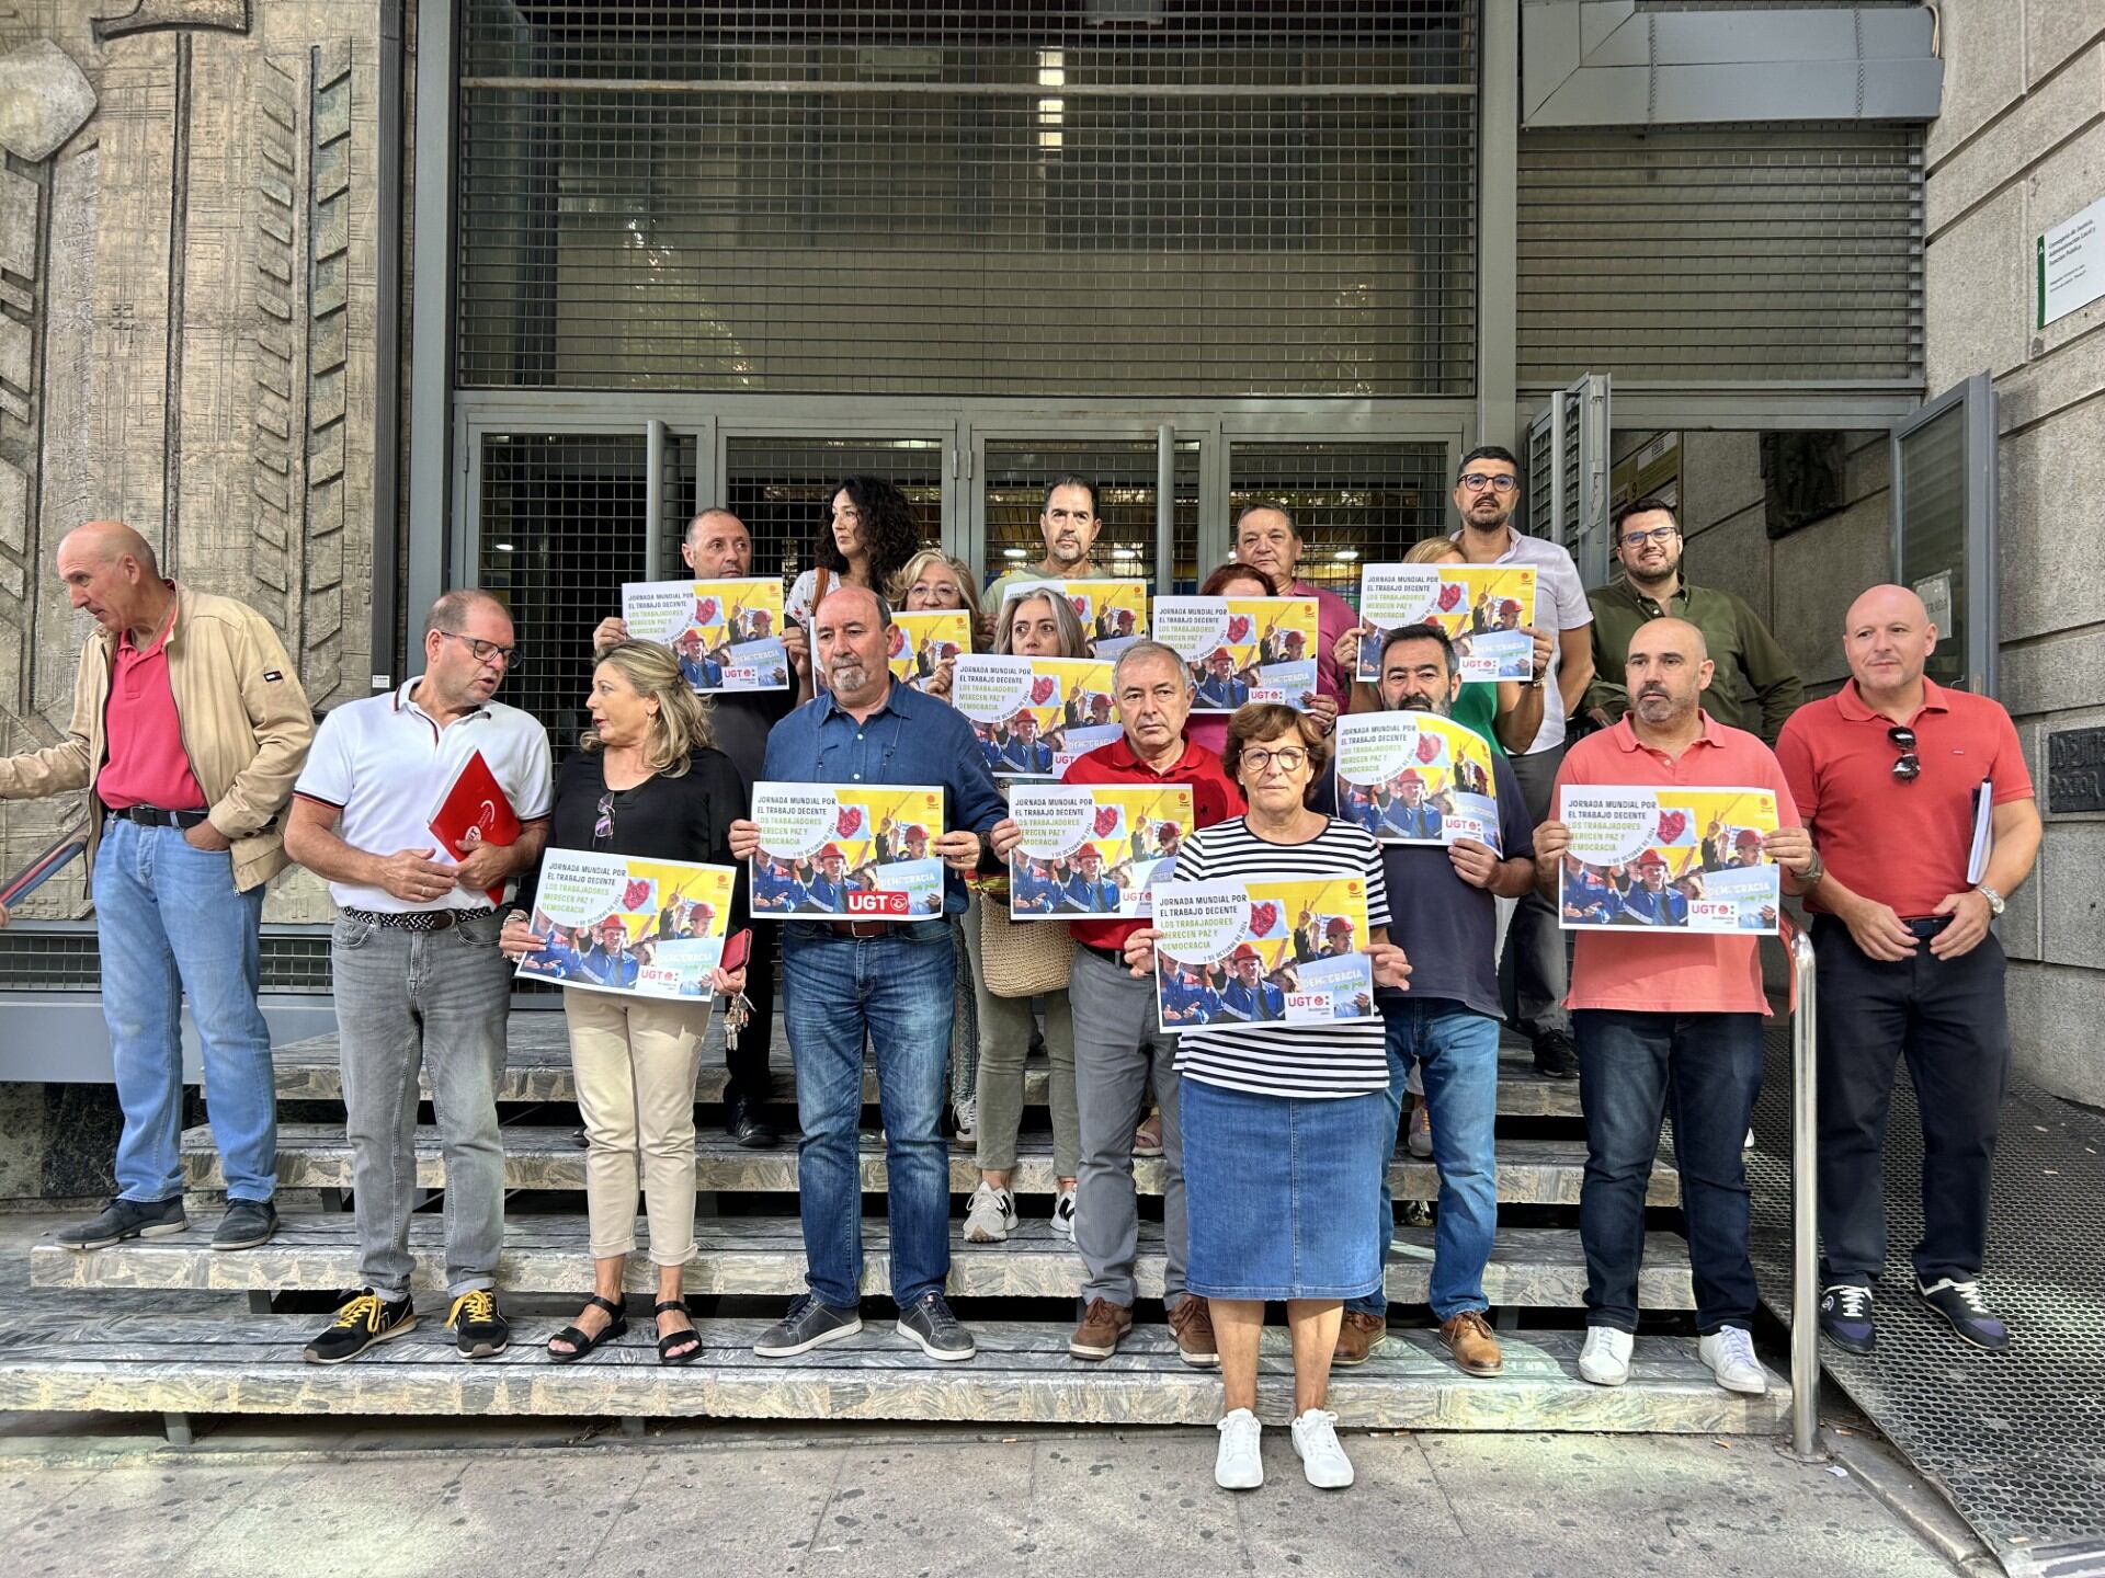
<svg viewBox="0 0 2105 1578">
<path fill-rule="evenodd" d="M 2014 976 L 2012 976 L 2014 980 Z M 1753 1262 L 1766 1302 L 1791 1304 L 1791 1044 L 1768 1033 L 1747 1157 Z M 1905 1065 L 1886 1121 L 1888 1265 L 1869 1357 L 1821 1344 L 1821 1363 L 1871 1422 L 1937 1481 L 1974 1530 L 2014 1559 L 2023 1546 L 2105 1540 L 2105 1117 L 2010 1079 L 1996 1151 L 1985 1292 L 2012 1347 L 1972 1353 L 1913 1296 L 1922 1233 L 1922 1117 Z M 2029 1570 L 2029 1567 L 2027 1567 Z"/>
</svg>

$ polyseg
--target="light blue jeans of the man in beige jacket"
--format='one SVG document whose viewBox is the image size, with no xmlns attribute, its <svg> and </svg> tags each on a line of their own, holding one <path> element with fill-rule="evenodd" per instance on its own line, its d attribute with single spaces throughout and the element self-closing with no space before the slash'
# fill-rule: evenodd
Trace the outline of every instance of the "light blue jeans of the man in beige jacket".
<svg viewBox="0 0 2105 1578">
<path fill-rule="evenodd" d="M 263 888 L 234 886 L 234 856 L 175 827 L 103 818 L 95 846 L 103 1023 L 124 1134 L 118 1197 L 183 1193 L 183 997 L 204 1048 L 204 1107 L 229 1199 L 278 1189 L 278 1096 L 257 1008 Z"/>
</svg>

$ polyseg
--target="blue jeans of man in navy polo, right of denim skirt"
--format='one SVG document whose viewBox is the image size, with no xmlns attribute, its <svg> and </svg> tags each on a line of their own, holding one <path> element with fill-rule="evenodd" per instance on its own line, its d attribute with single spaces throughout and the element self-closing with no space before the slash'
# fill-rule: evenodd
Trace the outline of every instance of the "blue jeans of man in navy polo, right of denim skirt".
<svg viewBox="0 0 2105 1578">
<path fill-rule="evenodd" d="M 1434 1164 L 1440 1168 L 1440 1218 L 1434 1229 L 1431 1307 L 1442 1321 L 1465 1309 L 1488 1309 L 1484 1267 L 1499 1231 L 1499 1164 L 1492 1121 L 1499 1115 L 1499 1020 L 1452 999 L 1383 1004 L 1389 1031 L 1389 1136 L 1404 1117 L 1410 1065 L 1425 1079 L 1425 1111 L 1434 1121 Z M 1396 1237 L 1389 1170 L 1381 1170 L 1381 1252 L 1387 1265 Z M 1345 1304 L 1362 1315 L 1387 1315 L 1389 1296 Z"/>
</svg>

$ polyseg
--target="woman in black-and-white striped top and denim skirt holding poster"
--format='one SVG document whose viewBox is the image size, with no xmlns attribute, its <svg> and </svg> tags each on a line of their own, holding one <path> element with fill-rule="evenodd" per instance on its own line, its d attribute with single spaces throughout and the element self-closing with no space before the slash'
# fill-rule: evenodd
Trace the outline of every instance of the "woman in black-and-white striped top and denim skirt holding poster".
<svg viewBox="0 0 2105 1578">
<path fill-rule="evenodd" d="M 1250 808 L 1185 837 L 1175 882 L 1282 875 L 1364 882 L 1364 953 L 1375 985 L 1404 989 L 1410 966 L 1387 934 L 1381 846 L 1364 829 L 1307 804 L 1326 753 L 1314 715 L 1280 705 L 1238 711 L 1227 726 L 1225 764 Z M 1295 919 L 1290 911 L 1259 915 L 1252 928 L 1290 951 Z M 1160 936 L 1156 928 L 1132 934 L 1126 962 L 1135 974 L 1156 970 Z M 1349 943 L 1347 936 L 1337 947 Z M 1255 962 L 1234 959 L 1231 974 L 1240 974 L 1219 987 L 1223 1004 L 1240 985 L 1257 1006 L 1242 1018 L 1269 1018 L 1263 1006 L 1274 983 L 1265 966 L 1274 957 L 1263 949 L 1265 943 L 1252 945 Z M 1179 991 L 1194 989 L 1204 987 L 1179 983 Z M 1280 1006 L 1290 1018 L 1292 1002 Z M 1389 1241 L 1377 1231 L 1381 1178 L 1396 1149 L 1381 1016 L 1191 1029 L 1177 1046 L 1177 1077 L 1191 1233 L 1185 1286 L 1212 1304 L 1221 1353 L 1225 1418 L 1215 1483 L 1255 1490 L 1265 1481 L 1257 1342 L 1265 1300 L 1282 1298 L 1295 1349 L 1295 1452 L 1311 1485 L 1349 1485 L 1351 1462 L 1337 1441 L 1337 1414 L 1324 1401 L 1343 1300 L 1375 1292 Z"/>
</svg>

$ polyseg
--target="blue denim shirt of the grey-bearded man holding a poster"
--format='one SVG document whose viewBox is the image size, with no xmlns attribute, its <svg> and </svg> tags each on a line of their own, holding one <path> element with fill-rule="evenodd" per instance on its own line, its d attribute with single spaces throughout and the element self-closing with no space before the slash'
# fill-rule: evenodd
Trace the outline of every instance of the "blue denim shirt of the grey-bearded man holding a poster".
<svg viewBox="0 0 2105 1578">
<path fill-rule="evenodd" d="M 861 724 L 813 696 L 768 732 L 760 768 L 766 783 L 897 783 L 943 791 L 943 827 L 985 835 L 1008 808 L 979 739 L 947 701 L 893 682 L 884 703 Z M 964 911 L 964 877 L 943 869 L 943 913 Z"/>
</svg>

